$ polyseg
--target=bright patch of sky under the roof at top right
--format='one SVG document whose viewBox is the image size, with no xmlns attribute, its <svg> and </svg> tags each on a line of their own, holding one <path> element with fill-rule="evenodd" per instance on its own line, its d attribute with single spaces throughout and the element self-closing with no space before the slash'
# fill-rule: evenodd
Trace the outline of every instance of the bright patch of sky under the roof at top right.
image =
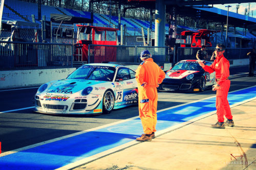
<svg viewBox="0 0 256 170">
<path fill-rule="evenodd" d="M 239 5 L 239 9 L 238 9 L 238 13 L 244 15 L 245 12 L 245 8 L 249 8 L 249 3 L 241 3 L 241 4 L 224 4 L 224 5 L 214 5 L 214 7 L 216 8 L 220 8 L 223 10 L 227 10 L 227 7 L 230 5 L 231 7 L 229 7 L 229 11 L 231 12 L 235 12 L 237 13 L 237 5 Z M 250 3 L 250 17 L 251 17 L 251 11 L 253 11 L 253 18 L 256 18 L 256 3 Z"/>
</svg>

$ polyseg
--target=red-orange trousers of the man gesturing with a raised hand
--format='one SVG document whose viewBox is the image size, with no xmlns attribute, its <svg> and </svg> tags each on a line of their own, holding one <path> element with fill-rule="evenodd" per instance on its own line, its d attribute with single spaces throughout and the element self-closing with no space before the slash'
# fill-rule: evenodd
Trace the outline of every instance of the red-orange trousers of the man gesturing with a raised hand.
<svg viewBox="0 0 256 170">
<path fill-rule="evenodd" d="M 224 122 L 224 115 L 227 119 L 232 119 L 231 110 L 227 100 L 227 94 L 230 87 L 230 80 L 225 80 L 222 88 L 216 93 L 216 109 L 219 122 Z"/>
</svg>

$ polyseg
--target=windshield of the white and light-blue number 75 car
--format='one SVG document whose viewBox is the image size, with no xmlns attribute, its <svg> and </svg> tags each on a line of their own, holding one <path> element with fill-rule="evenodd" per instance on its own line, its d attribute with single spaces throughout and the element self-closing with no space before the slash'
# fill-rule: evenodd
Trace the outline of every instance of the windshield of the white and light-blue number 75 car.
<svg viewBox="0 0 256 170">
<path fill-rule="evenodd" d="M 75 70 L 67 79 L 113 81 L 114 67 L 84 65 Z"/>
</svg>

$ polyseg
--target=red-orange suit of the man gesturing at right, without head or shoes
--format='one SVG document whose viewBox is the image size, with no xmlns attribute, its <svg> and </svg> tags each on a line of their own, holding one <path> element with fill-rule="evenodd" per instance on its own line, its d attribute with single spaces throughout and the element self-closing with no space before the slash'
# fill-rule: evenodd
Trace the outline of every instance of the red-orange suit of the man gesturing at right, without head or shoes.
<svg viewBox="0 0 256 170">
<path fill-rule="evenodd" d="M 224 122 L 224 115 L 227 119 L 232 119 L 227 94 L 230 87 L 229 61 L 222 55 L 219 56 L 210 66 L 205 65 L 204 70 L 216 73 L 216 109 L 219 122 Z"/>
</svg>

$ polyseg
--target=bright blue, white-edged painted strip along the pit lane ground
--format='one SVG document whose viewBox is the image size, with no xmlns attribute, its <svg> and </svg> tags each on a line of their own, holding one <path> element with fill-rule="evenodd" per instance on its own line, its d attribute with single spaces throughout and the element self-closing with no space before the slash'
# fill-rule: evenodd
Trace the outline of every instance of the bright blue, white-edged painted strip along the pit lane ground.
<svg viewBox="0 0 256 170">
<path fill-rule="evenodd" d="M 256 86 L 230 92 L 230 107 L 256 99 Z M 215 96 L 158 111 L 157 135 L 215 114 Z M 0 169 L 69 169 L 137 144 L 138 116 L 0 154 Z"/>
</svg>

